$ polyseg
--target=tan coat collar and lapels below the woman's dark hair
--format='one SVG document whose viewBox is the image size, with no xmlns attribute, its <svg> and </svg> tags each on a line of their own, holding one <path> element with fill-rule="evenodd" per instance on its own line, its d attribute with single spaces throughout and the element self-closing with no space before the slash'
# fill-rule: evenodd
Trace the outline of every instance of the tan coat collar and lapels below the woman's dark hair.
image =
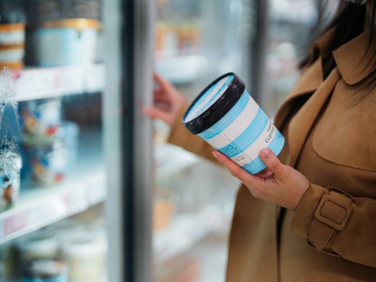
<svg viewBox="0 0 376 282">
<path fill-rule="evenodd" d="M 325 101 L 332 93 L 339 79 L 343 79 L 348 84 L 355 84 L 367 77 L 371 70 L 365 69 L 366 61 L 362 58 L 367 49 L 368 32 L 364 32 L 333 52 L 337 67 L 323 81 L 322 57 L 328 54 L 327 47 L 333 36 L 334 30 L 329 30 L 324 36 L 318 39 L 311 53 L 318 56 L 313 64 L 307 67 L 300 79 L 294 86 L 290 96 L 281 106 L 276 115 L 276 126 L 281 129 L 288 116 L 296 97 L 315 93 L 299 109 L 289 123 L 288 144 L 290 158 L 288 164 L 294 167 L 299 158 L 300 151 L 314 121 L 322 109 Z M 312 59 L 312 57 L 311 57 Z"/>
</svg>

